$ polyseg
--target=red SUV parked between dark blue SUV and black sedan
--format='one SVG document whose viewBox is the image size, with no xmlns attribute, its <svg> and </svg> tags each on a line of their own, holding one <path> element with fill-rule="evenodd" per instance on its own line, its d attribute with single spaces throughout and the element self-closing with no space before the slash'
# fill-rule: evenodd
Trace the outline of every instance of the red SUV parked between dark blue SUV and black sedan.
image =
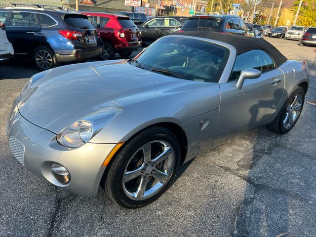
<svg viewBox="0 0 316 237">
<path fill-rule="evenodd" d="M 129 57 L 142 45 L 139 30 L 128 16 L 103 12 L 81 13 L 87 15 L 100 32 L 104 43 L 102 59 L 113 59 L 116 53 L 121 57 Z"/>
</svg>

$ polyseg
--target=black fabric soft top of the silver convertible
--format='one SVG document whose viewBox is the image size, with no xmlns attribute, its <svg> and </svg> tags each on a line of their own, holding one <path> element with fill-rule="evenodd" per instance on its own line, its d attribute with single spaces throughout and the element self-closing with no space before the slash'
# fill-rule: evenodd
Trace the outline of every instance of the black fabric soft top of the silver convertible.
<svg viewBox="0 0 316 237">
<path fill-rule="evenodd" d="M 232 34 L 221 34 L 216 32 L 198 32 L 198 31 L 188 31 L 188 32 L 179 32 L 175 35 L 184 35 L 184 36 L 195 36 L 200 38 L 206 38 L 210 40 L 217 40 L 224 43 L 231 44 L 237 50 L 237 55 L 247 52 L 252 49 L 264 49 L 267 51 L 273 60 L 276 63 L 276 67 L 279 67 L 287 58 L 281 54 L 280 51 L 276 49 L 271 43 L 263 39 L 256 39 L 247 36 L 239 36 Z"/>
</svg>

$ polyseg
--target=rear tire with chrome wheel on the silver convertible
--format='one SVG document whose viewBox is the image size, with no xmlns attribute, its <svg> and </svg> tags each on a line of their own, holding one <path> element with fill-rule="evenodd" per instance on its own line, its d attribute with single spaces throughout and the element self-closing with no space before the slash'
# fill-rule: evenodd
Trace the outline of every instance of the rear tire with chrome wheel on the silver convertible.
<svg viewBox="0 0 316 237">
<path fill-rule="evenodd" d="M 302 87 L 297 86 L 290 94 L 273 122 L 267 125 L 268 129 L 280 134 L 289 132 L 301 115 L 304 100 L 304 90 Z"/>
</svg>

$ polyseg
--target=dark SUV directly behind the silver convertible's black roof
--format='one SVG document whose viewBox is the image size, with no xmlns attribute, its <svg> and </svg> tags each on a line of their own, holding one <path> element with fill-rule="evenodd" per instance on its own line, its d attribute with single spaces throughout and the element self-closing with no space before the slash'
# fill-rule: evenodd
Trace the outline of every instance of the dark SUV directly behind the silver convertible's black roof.
<svg viewBox="0 0 316 237">
<path fill-rule="evenodd" d="M 196 15 L 184 23 L 183 31 L 214 31 L 219 33 L 245 35 L 245 23 L 235 15 Z"/>
</svg>

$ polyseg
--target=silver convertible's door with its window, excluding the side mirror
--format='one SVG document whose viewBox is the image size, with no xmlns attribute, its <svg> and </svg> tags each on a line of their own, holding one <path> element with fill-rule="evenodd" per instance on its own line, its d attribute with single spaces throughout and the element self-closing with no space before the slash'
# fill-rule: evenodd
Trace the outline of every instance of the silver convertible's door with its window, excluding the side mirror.
<svg viewBox="0 0 316 237">
<path fill-rule="evenodd" d="M 240 90 L 240 71 L 255 68 L 262 72 L 257 79 L 245 79 Z M 220 83 L 221 104 L 217 126 L 217 142 L 251 129 L 273 114 L 284 93 L 283 72 L 274 66 L 270 55 L 255 49 L 236 57 L 227 83 Z"/>
</svg>

